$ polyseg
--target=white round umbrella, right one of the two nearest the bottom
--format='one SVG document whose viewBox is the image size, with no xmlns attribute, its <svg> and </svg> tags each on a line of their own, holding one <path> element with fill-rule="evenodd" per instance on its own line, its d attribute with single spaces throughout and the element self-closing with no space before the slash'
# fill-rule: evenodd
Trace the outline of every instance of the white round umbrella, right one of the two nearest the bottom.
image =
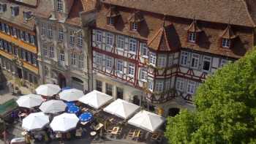
<svg viewBox="0 0 256 144">
<path fill-rule="evenodd" d="M 78 124 L 79 118 L 74 113 L 62 113 L 55 116 L 50 123 L 54 132 L 67 132 L 74 129 Z"/>
</svg>

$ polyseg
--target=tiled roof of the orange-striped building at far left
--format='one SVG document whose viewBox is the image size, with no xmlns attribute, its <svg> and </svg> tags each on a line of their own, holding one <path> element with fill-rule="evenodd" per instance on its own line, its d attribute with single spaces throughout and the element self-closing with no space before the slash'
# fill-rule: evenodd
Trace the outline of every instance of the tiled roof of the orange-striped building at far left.
<svg viewBox="0 0 256 144">
<path fill-rule="evenodd" d="M 7 11 L 0 13 L 0 18 L 2 20 L 18 25 L 24 29 L 29 29 L 31 31 L 34 31 L 35 20 L 34 18 L 29 18 L 29 20 L 24 20 L 23 12 L 31 11 L 32 15 L 34 15 L 34 13 L 36 12 L 42 13 L 43 15 L 48 14 L 48 11 L 45 11 L 45 7 L 47 7 L 45 4 L 47 4 L 48 1 L 39 1 L 39 4 L 37 4 L 38 5 L 37 7 L 29 7 L 29 6 L 26 6 L 26 4 L 18 4 L 17 2 L 12 2 L 7 0 L 0 0 L 0 3 L 7 4 Z M 19 7 L 19 14 L 16 16 L 12 16 L 10 7 L 13 7 L 13 6 Z"/>
</svg>

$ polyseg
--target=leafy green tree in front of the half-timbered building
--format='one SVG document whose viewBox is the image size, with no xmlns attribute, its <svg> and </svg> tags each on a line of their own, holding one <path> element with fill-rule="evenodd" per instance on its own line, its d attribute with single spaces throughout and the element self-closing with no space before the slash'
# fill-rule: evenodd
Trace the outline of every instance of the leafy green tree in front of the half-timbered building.
<svg viewBox="0 0 256 144">
<path fill-rule="evenodd" d="M 256 50 L 208 77 L 195 105 L 167 118 L 169 143 L 256 143 Z"/>
</svg>

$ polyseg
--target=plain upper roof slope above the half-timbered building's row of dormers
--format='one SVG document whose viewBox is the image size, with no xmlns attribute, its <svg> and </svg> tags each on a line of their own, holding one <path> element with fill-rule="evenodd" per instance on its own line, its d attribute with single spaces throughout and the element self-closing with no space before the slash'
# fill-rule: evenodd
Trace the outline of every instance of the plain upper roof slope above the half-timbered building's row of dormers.
<svg viewBox="0 0 256 144">
<path fill-rule="evenodd" d="M 102 2 L 178 18 L 256 26 L 256 4 L 252 0 L 102 0 Z"/>
</svg>

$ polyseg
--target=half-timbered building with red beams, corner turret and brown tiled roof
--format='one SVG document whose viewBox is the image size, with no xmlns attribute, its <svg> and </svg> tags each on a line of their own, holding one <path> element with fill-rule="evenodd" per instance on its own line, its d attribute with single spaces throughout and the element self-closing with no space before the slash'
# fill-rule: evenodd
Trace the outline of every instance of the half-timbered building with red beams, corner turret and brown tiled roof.
<svg viewBox="0 0 256 144">
<path fill-rule="evenodd" d="M 94 89 L 163 115 L 193 109 L 197 86 L 255 45 L 255 15 L 248 12 L 253 5 L 102 1 L 91 32 Z"/>
</svg>

